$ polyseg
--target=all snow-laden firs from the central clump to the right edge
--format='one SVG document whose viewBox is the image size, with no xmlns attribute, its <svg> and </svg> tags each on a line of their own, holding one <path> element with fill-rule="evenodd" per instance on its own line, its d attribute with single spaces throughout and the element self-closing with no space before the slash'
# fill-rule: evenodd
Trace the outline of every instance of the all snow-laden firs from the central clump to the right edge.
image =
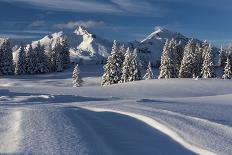
<svg viewBox="0 0 232 155">
<path fill-rule="evenodd" d="M 219 53 L 218 65 L 224 68 L 222 78 L 231 79 L 232 46 L 227 50 L 221 48 Z M 166 40 L 158 78 L 215 78 L 214 57 L 213 47 L 207 41 L 196 43 L 190 39 L 183 47 L 175 39 Z M 101 84 L 106 86 L 154 78 L 150 62 L 143 78 L 141 68 L 137 49 L 126 49 L 124 45 L 120 46 L 114 41 L 111 55 L 104 66 Z"/>
</svg>

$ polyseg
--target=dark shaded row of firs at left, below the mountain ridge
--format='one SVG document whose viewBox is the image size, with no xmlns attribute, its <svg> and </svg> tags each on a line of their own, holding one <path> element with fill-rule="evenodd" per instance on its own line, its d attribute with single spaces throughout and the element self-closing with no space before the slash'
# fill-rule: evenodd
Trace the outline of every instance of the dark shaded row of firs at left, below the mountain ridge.
<svg viewBox="0 0 232 155">
<path fill-rule="evenodd" d="M 61 72 L 69 65 L 69 45 L 65 38 L 53 46 L 50 43 L 47 50 L 40 42 L 34 47 L 21 45 L 15 62 L 9 40 L 3 40 L 0 46 L 0 75 Z"/>
</svg>

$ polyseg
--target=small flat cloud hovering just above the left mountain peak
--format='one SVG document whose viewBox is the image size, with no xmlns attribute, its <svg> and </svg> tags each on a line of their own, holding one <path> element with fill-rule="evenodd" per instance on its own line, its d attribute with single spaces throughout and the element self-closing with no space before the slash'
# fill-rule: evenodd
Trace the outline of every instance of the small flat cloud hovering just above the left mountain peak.
<svg viewBox="0 0 232 155">
<path fill-rule="evenodd" d="M 105 23 L 103 21 L 70 21 L 68 23 L 61 23 L 54 25 L 55 28 L 59 29 L 74 29 L 77 26 L 84 26 L 86 28 L 92 28 L 92 27 L 102 27 Z"/>
</svg>

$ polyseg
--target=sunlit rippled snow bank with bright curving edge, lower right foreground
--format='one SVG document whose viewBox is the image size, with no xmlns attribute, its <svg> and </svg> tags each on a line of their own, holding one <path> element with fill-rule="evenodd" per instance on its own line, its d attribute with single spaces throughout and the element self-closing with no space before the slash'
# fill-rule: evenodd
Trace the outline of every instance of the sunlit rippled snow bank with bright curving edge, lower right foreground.
<svg viewBox="0 0 232 155">
<path fill-rule="evenodd" d="M 172 108 L 170 109 L 176 110 L 175 106 L 178 106 L 178 104 L 172 105 Z M 173 110 L 163 110 L 165 109 L 165 105 L 163 105 L 164 108 L 156 105 L 151 107 L 136 104 L 133 103 L 133 101 L 131 101 L 131 103 L 130 101 L 126 101 L 120 105 L 104 104 L 96 107 L 100 108 L 101 111 L 113 111 L 126 114 L 137 119 L 140 119 L 140 117 L 134 115 L 140 115 L 158 121 L 159 124 L 164 125 L 168 128 L 168 130 L 171 130 L 177 135 L 173 135 L 173 133 L 170 133 L 169 131 L 165 132 L 165 130 L 159 126 L 154 126 L 155 128 L 161 128 L 160 131 L 163 131 L 165 134 L 171 136 L 173 139 L 198 154 L 209 154 L 208 151 L 211 151 L 212 154 L 230 154 L 232 151 L 232 128 L 229 125 L 216 123 L 213 120 L 210 121 L 207 119 L 183 115 L 180 111 L 173 112 Z M 207 117 L 207 113 L 205 115 L 205 117 Z M 141 120 L 146 122 L 146 119 L 144 120 L 142 118 Z M 148 124 L 149 123 L 151 124 L 151 122 L 148 122 Z M 183 138 L 183 140 L 179 140 L 178 137 Z"/>
</svg>

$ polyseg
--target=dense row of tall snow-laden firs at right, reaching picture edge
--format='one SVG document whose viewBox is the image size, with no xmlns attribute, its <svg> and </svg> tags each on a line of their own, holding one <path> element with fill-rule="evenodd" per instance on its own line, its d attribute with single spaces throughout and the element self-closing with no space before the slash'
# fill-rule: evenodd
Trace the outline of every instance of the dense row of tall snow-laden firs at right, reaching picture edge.
<svg viewBox="0 0 232 155">
<path fill-rule="evenodd" d="M 231 78 L 232 48 L 220 50 L 219 66 L 224 68 L 224 79 Z M 166 41 L 161 56 L 159 79 L 215 78 L 214 53 L 207 41 L 195 43 L 192 39 L 181 50 L 174 39 Z"/>
</svg>

